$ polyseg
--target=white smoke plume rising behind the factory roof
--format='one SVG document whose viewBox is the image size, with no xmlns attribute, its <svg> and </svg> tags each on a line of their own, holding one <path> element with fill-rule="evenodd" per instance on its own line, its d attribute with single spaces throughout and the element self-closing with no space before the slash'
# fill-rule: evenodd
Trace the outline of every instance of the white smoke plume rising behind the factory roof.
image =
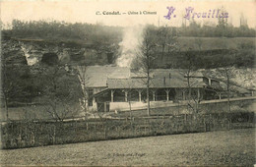
<svg viewBox="0 0 256 167">
<path fill-rule="evenodd" d="M 123 40 L 119 43 L 121 56 L 117 58 L 116 64 L 119 67 L 131 67 L 132 61 L 140 50 L 142 42 L 143 26 L 125 28 Z"/>
</svg>

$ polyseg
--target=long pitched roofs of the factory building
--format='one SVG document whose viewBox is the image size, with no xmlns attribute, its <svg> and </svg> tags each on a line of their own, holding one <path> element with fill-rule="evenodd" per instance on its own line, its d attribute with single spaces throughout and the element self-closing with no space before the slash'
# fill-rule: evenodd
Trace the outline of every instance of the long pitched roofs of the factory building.
<svg viewBox="0 0 256 167">
<path fill-rule="evenodd" d="M 185 70 L 177 69 L 154 69 L 151 72 L 150 87 L 187 87 Z M 90 66 L 87 76 L 89 78 L 89 87 L 108 87 L 108 88 L 145 88 L 146 78 L 141 72 L 130 72 L 128 68 L 114 66 Z M 191 74 L 198 78 L 191 78 L 192 87 L 202 87 L 202 73 Z"/>
</svg>

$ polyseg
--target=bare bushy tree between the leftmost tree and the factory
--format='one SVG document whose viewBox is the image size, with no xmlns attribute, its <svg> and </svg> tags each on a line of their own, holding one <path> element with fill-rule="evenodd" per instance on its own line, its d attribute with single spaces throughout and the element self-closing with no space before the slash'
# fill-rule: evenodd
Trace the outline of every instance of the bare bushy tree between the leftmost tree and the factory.
<svg viewBox="0 0 256 167">
<path fill-rule="evenodd" d="M 42 73 L 37 75 L 35 82 L 41 86 L 39 100 L 52 119 L 62 122 L 77 114 L 78 82 L 65 67 L 42 67 Z"/>
</svg>

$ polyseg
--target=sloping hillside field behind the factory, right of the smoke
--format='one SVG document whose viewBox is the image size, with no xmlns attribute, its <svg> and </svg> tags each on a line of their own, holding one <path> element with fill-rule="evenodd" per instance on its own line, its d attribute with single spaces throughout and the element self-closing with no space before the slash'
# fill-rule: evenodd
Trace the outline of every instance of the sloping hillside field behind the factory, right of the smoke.
<svg viewBox="0 0 256 167">
<path fill-rule="evenodd" d="M 193 57 L 194 68 L 255 67 L 255 37 L 178 37 L 178 50 L 162 54 L 156 59 L 157 68 L 187 68 L 187 56 Z"/>
</svg>

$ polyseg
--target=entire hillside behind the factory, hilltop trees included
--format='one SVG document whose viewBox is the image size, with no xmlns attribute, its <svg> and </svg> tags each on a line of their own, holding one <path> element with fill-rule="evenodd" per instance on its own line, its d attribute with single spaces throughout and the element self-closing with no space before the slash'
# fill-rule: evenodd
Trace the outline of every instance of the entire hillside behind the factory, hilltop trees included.
<svg viewBox="0 0 256 167">
<path fill-rule="evenodd" d="M 11 43 L 4 49 L 11 50 L 12 43 L 18 43 L 15 45 L 20 45 L 29 65 L 40 62 L 45 53 L 54 53 L 62 64 L 114 64 L 124 53 L 124 48 L 129 48 L 129 52 L 136 50 L 134 43 L 143 38 L 140 31 L 151 28 L 149 35 L 156 45 L 156 68 L 186 68 L 184 56 L 191 51 L 195 54 L 195 62 L 201 62 L 196 65 L 197 69 L 254 66 L 255 29 L 200 28 L 192 25 L 187 28 L 146 26 L 130 28 L 127 33 L 129 28 L 100 24 L 14 20 L 11 29 L 2 30 L 2 36 L 3 44 Z M 232 35 L 224 37 L 224 30 L 232 32 Z M 123 45 L 124 40 L 126 46 Z"/>
</svg>

